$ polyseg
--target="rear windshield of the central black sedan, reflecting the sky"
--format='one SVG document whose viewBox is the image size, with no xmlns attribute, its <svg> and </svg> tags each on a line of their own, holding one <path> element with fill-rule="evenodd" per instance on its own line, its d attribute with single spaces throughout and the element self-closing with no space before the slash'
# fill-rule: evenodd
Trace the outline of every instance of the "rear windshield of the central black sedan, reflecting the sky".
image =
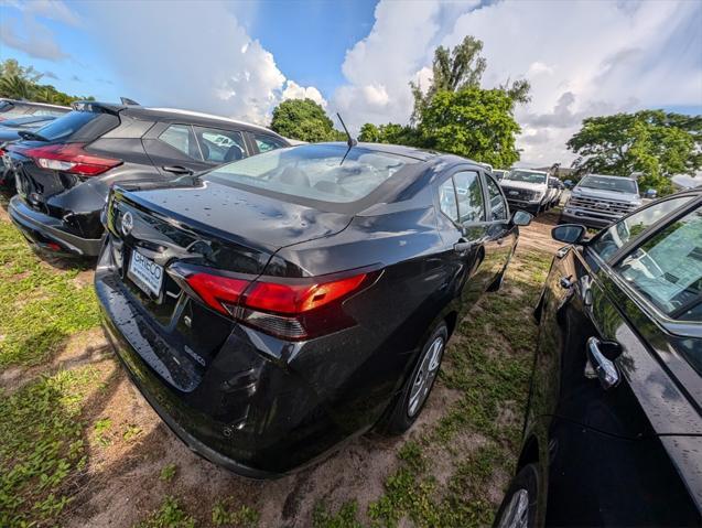
<svg viewBox="0 0 702 528">
<path fill-rule="evenodd" d="M 375 191 L 408 163 L 401 155 L 345 146 L 278 149 L 222 165 L 204 180 L 238 183 L 307 200 L 349 203 Z"/>
</svg>

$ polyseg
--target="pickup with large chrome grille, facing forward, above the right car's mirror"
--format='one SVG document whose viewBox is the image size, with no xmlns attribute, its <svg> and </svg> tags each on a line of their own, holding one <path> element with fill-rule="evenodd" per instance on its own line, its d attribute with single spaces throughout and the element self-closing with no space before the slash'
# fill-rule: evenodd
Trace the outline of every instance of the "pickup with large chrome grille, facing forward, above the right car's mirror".
<svg viewBox="0 0 702 528">
<path fill-rule="evenodd" d="M 638 184 L 633 177 L 587 174 L 571 192 L 560 222 L 604 227 L 640 205 Z"/>
</svg>

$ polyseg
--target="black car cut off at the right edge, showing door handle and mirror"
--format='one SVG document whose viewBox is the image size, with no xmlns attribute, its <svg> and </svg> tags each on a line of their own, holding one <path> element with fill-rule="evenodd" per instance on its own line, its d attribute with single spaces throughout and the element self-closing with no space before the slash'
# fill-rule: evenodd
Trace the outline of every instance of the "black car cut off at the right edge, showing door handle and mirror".
<svg viewBox="0 0 702 528">
<path fill-rule="evenodd" d="M 496 526 L 702 526 L 702 190 L 584 236 L 553 229 Z"/>
</svg>

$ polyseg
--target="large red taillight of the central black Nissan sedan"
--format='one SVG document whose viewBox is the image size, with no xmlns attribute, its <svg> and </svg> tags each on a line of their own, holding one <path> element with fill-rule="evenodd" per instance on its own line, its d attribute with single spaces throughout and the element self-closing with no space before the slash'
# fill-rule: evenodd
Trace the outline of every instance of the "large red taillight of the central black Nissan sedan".
<svg viewBox="0 0 702 528">
<path fill-rule="evenodd" d="M 333 281 L 281 283 L 247 281 L 195 272 L 191 289 L 209 308 L 263 332 L 292 341 L 306 340 L 350 326 L 341 301 L 367 282 L 359 273 Z"/>
</svg>

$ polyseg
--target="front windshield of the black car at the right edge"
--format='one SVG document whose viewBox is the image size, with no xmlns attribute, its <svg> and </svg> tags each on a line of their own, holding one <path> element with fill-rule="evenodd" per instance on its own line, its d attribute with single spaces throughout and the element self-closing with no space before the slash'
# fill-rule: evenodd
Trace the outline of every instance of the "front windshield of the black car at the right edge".
<svg viewBox="0 0 702 528">
<path fill-rule="evenodd" d="M 590 247 L 600 257 L 607 260 L 631 238 L 641 234 L 668 213 L 684 205 L 690 200 L 692 200 L 692 196 L 680 196 L 658 202 L 641 209 L 608 227 L 600 237 L 593 240 Z"/>
</svg>

